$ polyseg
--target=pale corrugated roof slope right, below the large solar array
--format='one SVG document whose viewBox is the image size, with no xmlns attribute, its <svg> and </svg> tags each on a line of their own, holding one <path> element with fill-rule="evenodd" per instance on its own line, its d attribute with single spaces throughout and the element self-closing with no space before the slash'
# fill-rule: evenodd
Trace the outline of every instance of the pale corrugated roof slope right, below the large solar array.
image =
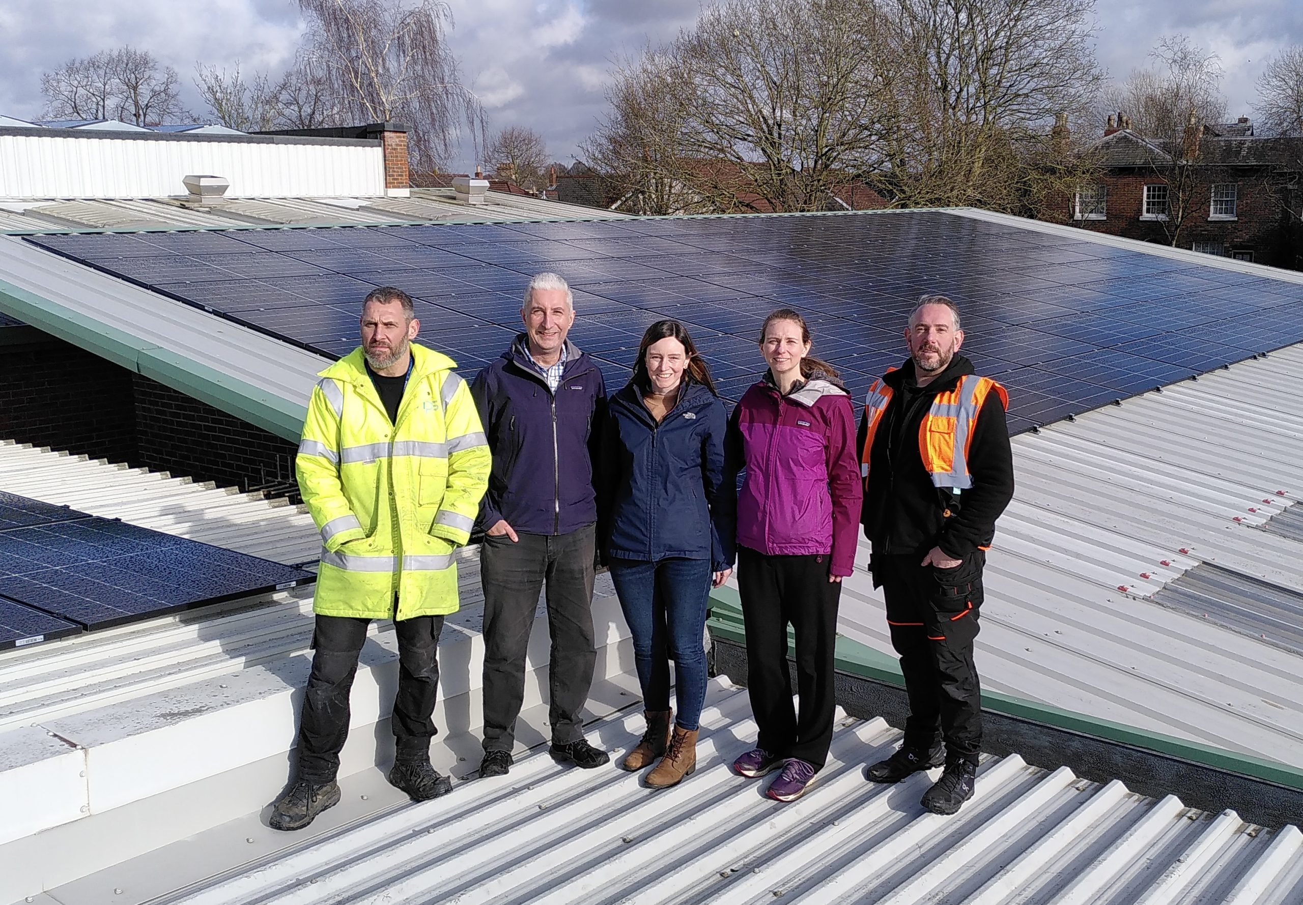
<svg viewBox="0 0 1303 905">
<path fill-rule="evenodd" d="M 1303 543 L 1260 530 L 1303 499 L 1300 384 L 1293 346 L 1015 438 L 984 686 L 1303 766 L 1303 658 L 1153 600 L 1200 563 L 1303 591 Z M 891 654 L 866 560 L 842 630 Z"/>
</svg>

